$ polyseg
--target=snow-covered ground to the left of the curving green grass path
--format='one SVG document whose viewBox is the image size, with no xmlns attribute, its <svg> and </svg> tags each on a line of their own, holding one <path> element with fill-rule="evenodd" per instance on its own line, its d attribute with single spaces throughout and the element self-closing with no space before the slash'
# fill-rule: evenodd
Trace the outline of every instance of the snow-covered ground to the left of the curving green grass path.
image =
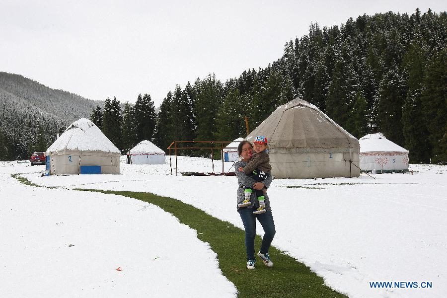
<svg viewBox="0 0 447 298">
<path fill-rule="evenodd" d="M 43 167 L 0 163 L 2 297 L 236 297 L 209 244 L 159 207 L 10 177 Z"/>
</svg>

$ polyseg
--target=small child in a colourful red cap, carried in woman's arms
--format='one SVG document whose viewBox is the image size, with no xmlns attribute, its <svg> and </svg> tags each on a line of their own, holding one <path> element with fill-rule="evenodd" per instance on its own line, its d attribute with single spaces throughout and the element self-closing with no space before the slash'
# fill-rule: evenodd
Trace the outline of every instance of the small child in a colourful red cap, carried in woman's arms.
<svg viewBox="0 0 447 298">
<path fill-rule="evenodd" d="M 272 167 L 270 166 L 270 157 L 267 154 L 267 138 L 264 136 L 257 136 L 253 142 L 254 153 L 251 156 L 250 162 L 242 167 L 239 167 L 239 172 L 244 172 L 251 178 L 253 178 L 257 182 L 261 182 L 262 180 L 267 179 L 268 175 L 270 175 L 270 170 Z M 246 207 L 251 205 L 250 197 L 253 192 L 252 188 L 246 187 L 244 189 L 245 200 L 240 203 L 239 207 Z M 254 214 L 261 214 L 266 212 L 265 204 L 264 204 L 264 190 L 255 190 L 256 197 L 259 201 L 259 208 L 256 211 L 253 211 Z"/>
</svg>

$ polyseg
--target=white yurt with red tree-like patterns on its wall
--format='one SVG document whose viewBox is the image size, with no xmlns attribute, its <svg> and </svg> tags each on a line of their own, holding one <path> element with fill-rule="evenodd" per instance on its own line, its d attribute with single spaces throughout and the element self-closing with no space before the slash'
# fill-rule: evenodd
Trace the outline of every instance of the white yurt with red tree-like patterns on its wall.
<svg viewBox="0 0 447 298">
<path fill-rule="evenodd" d="M 360 168 L 363 171 L 401 172 L 408 170 L 408 150 L 381 133 L 360 138 Z"/>
</svg>

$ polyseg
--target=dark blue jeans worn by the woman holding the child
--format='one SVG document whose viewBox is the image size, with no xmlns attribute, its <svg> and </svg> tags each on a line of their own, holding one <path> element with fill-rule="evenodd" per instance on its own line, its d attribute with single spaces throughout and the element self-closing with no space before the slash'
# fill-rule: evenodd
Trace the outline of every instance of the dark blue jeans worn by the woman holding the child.
<svg viewBox="0 0 447 298">
<path fill-rule="evenodd" d="M 262 237 L 261 253 L 269 252 L 270 244 L 275 236 L 275 223 L 273 222 L 272 211 L 269 210 L 261 214 L 253 214 L 254 208 L 239 208 L 237 212 L 242 219 L 245 228 L 245 248 L 247 249 L 247 260 L 255 260 L 254 255 L 254 238 L 256 236 L 256 219 L 264 229 L 264 237 Z"/>
</svg>

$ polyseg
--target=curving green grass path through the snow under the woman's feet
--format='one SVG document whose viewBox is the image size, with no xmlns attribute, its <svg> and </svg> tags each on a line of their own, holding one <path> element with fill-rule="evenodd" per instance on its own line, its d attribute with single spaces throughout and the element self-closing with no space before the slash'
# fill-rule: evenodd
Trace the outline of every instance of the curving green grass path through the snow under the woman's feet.
<svg viewBox="0 0 447 298">
<path fill-rule="evenodd" d="M 240 298 L 347 297 L 325 286 L 323 279 L 316 276 L 308 267 L 273 246 L 269 251 L 274 262 L 273 268 L 266 267 L 258 258 L 256 268 L 247 270 L 244 231 L 179 200 L 141 192 L 78 190 L 117 194 L 152 203 L 174 215 L 182 224 L 197 230 L 198 238 L 210 243 L 211 249 L 218 254 L 222 272 L 236 286 Z M 179 253 L 185 256 L 194 253 L 181 251 L 181 243 L 174 245 L 179 245 Z M 259 249 L 260 246 L 261 238 L 256 236 L 255 249 Z"/>
</svg>

